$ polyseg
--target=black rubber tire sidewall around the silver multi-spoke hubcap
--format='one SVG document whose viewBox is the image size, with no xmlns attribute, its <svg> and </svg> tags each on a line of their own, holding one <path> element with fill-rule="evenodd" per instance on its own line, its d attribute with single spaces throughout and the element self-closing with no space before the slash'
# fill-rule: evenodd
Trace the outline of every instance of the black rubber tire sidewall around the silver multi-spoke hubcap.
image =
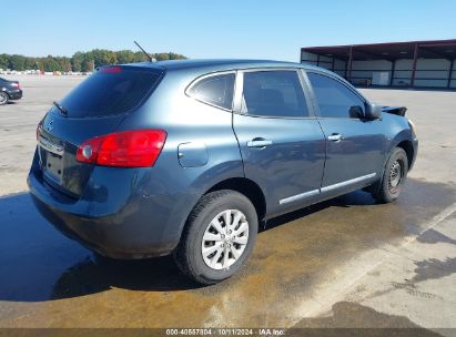
<svg viewBox="0 0 456 337">
<path fill-rule="evenodd" d="M 231 265 L 229 269 L 217 270 L 205 264 L 201 252 L 201 245 L 205 229 L 211 221 L 217 214 L 226 210 L 239 210 L 245 215 L 249 223 L 249 241 L 241 257 Z M 190 267 L 193 272 L 192 274 L 197 278 L 202 278 L 205 283 L 215 283 L 229 278 L 244 265 L 245 261 L 252 254 L 256 241 L 259 222 L 255 207 L 252 203 L 242 194 L 230 192 L 221 195 L 212 203 L 209 203 L 194 219 L 192 227 L 193 231 L 189 233 L 185 249 L 189 254 L 188 262 L 191 264 Z"/>
</svg>

